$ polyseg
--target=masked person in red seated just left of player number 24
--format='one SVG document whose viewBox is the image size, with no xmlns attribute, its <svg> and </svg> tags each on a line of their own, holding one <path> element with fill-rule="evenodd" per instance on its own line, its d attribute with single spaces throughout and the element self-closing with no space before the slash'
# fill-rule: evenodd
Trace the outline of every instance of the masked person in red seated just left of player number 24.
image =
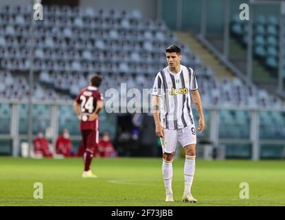
<svg viewBox="0 0 285 220">
<path fill-rule="evenodd" d="M 56 153 L 65 157 L 73 155 L 72 142 L 67 129 L 63 129 L 61 135 L 56 140 Z"/>
</svg>

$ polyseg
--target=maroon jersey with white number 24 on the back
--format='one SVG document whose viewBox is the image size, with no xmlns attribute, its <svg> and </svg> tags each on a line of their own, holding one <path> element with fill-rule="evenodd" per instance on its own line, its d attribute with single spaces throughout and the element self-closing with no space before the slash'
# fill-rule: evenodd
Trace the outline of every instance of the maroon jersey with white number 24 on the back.
<svg viewBox="0 0 285 220">
<path fill-rule="evenodd" d="M 103 95 L 100 93 L 96 87 L 86 87 L 80 91 L 80 94 L 76 98 L 76 102 L 80 104 L 81 120 L 80 129 L 81 130 L 95 130 L 96 120 L 88 121 L 88 116 L 91 115 L 97 105 L 97 101 L 102 101 Z"/>
</svg>

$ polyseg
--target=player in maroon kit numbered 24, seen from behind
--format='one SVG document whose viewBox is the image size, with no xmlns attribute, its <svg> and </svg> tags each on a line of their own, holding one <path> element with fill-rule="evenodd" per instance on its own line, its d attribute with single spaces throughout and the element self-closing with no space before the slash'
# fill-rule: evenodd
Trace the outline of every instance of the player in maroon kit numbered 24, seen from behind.
<svg viewBox="0 0 285 220">
<path fill-rule="evenodd" d="M 84 146 L 84 171 L 82 177 L 95 178 L 90 169 L 95 148 L 99 142 L 99 111 L 103 108 L 103 95 L 99 91 L 102 78 L 95 74 L 91 77 L 89 87 L 80 91 L 73 107 L 80 120 L 82 144 Z"/>
</svg>

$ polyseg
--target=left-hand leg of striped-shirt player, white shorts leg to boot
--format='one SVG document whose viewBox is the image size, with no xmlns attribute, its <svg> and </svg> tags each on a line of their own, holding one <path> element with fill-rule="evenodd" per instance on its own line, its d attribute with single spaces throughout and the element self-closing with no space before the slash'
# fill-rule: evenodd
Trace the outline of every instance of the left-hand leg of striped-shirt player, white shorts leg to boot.
<svg viewBox="0 0 285 220">
<path fill-rule="evenodd" d="M 172 192 L 172 162 L 176 142 L 176 130 L 165 129 L 165 135 L 161 138 L 161 147 L 163 151 L 162 175 L 164 186 L 166 187 L 166 201 L 174 201 Z"/>
</svg>

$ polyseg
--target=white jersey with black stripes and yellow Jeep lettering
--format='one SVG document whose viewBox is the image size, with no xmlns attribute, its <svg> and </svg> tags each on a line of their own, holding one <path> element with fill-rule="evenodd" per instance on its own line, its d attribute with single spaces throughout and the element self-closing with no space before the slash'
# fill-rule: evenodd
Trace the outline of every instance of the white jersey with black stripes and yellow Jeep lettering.
<svg viewBox="0 0 285 220">
<path fill-rule="evenodd" d="M 160 98 L 160 122 L 165 129 L 182 129 L 194 125 L 190 91 L 198 89 L 196 76 L 190 67 L 180 65 L 174 74 L 164 68 L 155 78 L 152 96 Z"/>
</svg>

